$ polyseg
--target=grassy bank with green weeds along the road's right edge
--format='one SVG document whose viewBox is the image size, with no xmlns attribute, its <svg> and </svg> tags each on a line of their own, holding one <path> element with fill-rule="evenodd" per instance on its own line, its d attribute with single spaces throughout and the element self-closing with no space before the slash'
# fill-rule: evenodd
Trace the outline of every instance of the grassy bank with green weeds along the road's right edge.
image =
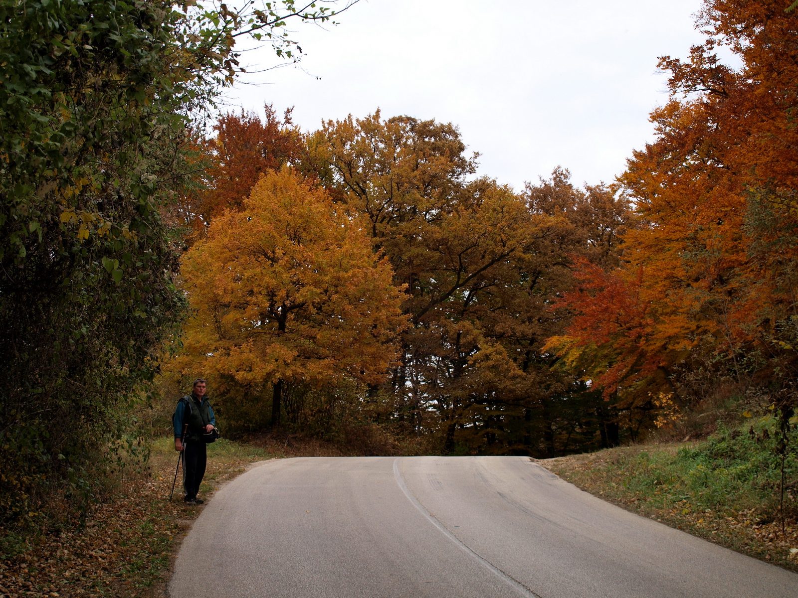
<svg viewBox="0 0 798 598">
<path fill-rule="evenodd" d="M 618 447 L 543 459 L 581 490 L 643 517 L 798 572 L 795 458 L 784 503 L 756 439 L 721 432 L 693 443 Z"/>
</svg>

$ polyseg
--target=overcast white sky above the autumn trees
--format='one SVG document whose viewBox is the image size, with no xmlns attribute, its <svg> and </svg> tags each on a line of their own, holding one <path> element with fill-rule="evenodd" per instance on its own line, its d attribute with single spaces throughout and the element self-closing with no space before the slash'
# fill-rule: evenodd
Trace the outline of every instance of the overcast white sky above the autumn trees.
<svg viewBox="0 0 798 598">
<path fill-rule="evenodd" d="M 575 183 L 610 182 L 651 140 L 666 100 L 657 57 L 685 57 L 703 37 L 700 0 L 361 0 L 338 26 L 295 26 L 306 57 L 248 75 L 231 106 L 294 106 L 322 119 L 407 114 L 460 127 L 480 175 L 516 189 L 552 168 Z M 274 65 L 270 49 L 242 64 Z M 318 77 L 318 78 L 316 78 Z"/>
</svg>

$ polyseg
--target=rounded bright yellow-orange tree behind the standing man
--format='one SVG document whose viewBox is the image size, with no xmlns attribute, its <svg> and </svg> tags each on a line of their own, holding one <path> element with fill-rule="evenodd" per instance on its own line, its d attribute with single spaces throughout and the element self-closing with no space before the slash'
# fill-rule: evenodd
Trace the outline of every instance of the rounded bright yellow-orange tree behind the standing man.
<svg viewBox="0 0 798 598">
<path fill-rule="evenodd" d="M 184 255 L 193 313 L 176 372 L 207 372 L 258 399 L 283 386 L 377 384 L 397 360 L 401 289 L 357 218 L 288 168 L 269 171 L 240 211 L 215 218 Z"/>
</svg>

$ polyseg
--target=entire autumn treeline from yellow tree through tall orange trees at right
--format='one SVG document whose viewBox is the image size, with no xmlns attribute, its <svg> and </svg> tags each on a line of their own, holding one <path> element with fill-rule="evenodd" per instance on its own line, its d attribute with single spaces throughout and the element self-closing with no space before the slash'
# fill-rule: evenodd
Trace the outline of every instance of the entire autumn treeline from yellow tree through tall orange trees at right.
<svg viewBox="0 0 798 598">
<path fill-rule="evenodd" d="M 195 311 L 167 383 L 207 372 L 231 431 L 378 426 L 456 454 L 609 447 L 734 397 L 791 426 L 798 22 L 782 5 L 706 2 L 708 41 L 661 59 L 656 140 L 610 185 L 577 188 L 560 168 L 520 193 L 475 178 L 456 127 L 433 120 L 376 112 L 305 134 L 271 105 L 223 116 L 172 213 L 191 230 Z M 369 239 L 372 294 L 345 288 L 362 282 L 354 258 L 350 282 L 299 275 L 329 266 L 330 240 L 294 232 L 302 214 L 276 206 L 289 182 Z"/>
</svg>

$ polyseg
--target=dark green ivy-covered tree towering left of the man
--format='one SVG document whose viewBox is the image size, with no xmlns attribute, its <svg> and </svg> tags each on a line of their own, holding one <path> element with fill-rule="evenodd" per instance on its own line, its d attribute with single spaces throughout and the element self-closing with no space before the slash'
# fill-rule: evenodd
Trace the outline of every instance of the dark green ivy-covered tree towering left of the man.
<svg viewBox="0 0 798 598">
<path fill-rule="evenodd" d="M 2 517 L 64 479 L 88 496 L 115 407 L 180 325 L 160 213 L 188 175 L 192 116 L 239 69 L 235 38 L 295 58 L 286 19 L 332 14 L 245 8 L 0 1 Z"/>
</svg>

